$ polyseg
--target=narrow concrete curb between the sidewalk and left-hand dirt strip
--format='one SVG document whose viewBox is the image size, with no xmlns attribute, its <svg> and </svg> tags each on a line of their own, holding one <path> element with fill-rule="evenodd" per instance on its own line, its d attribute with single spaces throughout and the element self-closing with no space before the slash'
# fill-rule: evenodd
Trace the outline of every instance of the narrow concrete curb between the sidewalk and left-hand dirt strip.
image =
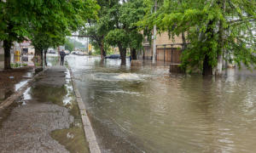
<svg viewBox="0 0 256 153">
<path fill-rule="evenodd" d="M 44 71 L 46 71 L 48 68 L 44 69 Z M 8 107 L 9 105 L 13 104 L 13 102 L 15 101 L 15 99 L 18 99 L 25 91 L 27 88 L 29 88 L 32 85 L 32 82 L 34 82 L 34 80 L 40 76 L 41 74 L 44 73 L 44 71 L 40 71 L 38 72 L 37 75 L 35 75 L 34 77 L 32 77 L 31 80 L 29 80 L 28 82 L 26 82 L 25 85 L 23 85 L 23 87 L 19 88 L 14 94 L 10 95 L 9 98 L 3 100 L 3 102 L 0 104 L 0 111 L 5 109 L 6 107 Z"/>
</svg>

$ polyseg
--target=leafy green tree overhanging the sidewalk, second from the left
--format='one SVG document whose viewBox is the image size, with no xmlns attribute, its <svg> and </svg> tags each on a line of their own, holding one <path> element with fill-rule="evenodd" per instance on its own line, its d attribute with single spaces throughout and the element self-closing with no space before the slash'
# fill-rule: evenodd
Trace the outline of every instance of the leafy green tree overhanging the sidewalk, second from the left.
<svg viewBox="0 0 256 153">
<path fill-rule="evenodd" d="M 39 59 L 43 59 L 43 50 L 46 54 L 49 47 L 64 44 L 67 35 L 84 26 L 88 18 L 96 17 L 97 5 L 94 1 L 58 1 L 57 4 L 55 1 L 44 1 L 44 8 L 36 12 L 40 16 L 38 20 L 44 19 L 43 26 L 32 29 L 32 43 Z"/>
</svg>

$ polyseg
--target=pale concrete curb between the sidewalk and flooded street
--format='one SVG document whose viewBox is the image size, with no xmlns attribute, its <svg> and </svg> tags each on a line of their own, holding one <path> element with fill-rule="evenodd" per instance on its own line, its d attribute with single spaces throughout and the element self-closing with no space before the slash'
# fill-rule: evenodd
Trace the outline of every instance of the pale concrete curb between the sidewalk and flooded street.
<svg viewBox="0 0 256 153">
<path fill-rule="evenodd" d="M 71 77 L 71 80 L 72 80 L 74 93 L 76 95 L 76 100 L 79 104 L 79 110 L 80 110 L 80 114 L 81 114 L 81 117 L 82 117 L 82 122 L 84 124 L 85 138 L 87 139 L 87 141 L 89 143 L 90 153 L 101 153 L 99 144 L 96 141 L 95 133 L 94 133 L 93 128 L 91 127 L 91 124 L 90 124 L 90 119 L 87 116 L 86 107 L 84 105 L 83 99 L 81 99 L 79 89 L 77 88 L 76 83 L 73 81 L 73 73 L 70 69 L 69 69 L 69 73 L 70 73 L 70 77 Z"/>
</svg>

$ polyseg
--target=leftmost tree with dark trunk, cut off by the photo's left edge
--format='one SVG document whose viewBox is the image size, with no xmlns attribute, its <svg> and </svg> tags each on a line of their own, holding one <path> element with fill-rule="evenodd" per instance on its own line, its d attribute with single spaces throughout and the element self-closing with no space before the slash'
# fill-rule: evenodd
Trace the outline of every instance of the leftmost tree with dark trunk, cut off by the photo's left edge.
<svg viewBox="0 0 256 153">
<path fill-rule="evenodd" d="M 10 48 L 12 42 L 23 41 L 29 33 L 26 31 L 28 20 L 35 17 L 27 7 L 32 7 L 29 1 L 6 0 L 0 1 L 0 41 L 4 48 L 4 69 L 10 69 Z"/>
</svg>

